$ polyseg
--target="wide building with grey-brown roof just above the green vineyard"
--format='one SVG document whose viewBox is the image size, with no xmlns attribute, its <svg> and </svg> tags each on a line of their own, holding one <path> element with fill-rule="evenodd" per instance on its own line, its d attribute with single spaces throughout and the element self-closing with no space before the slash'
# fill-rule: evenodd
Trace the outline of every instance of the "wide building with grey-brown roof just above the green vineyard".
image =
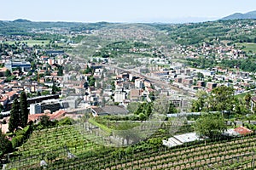
<svg viewBox="0 0 256 170">
<path fill-rule="evenodd" d="M 126 115 L 129 113 L 125 107 L 120 105 L 108 105 L 104 107 L 91 108 L 93 116 Z"/>
</svg>

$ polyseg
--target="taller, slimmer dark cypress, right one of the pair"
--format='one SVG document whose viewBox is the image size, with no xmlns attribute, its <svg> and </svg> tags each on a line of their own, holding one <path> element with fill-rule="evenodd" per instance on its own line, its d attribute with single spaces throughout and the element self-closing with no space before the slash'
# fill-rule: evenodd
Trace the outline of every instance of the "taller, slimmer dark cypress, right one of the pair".
<svg viewBox="0 0 256 170">
<path fill-rule="evenodd" d="M 20 94 L 20 127 L 26 127 L 28 119 L 27 98 L 23 91 Z"/>
</svg>

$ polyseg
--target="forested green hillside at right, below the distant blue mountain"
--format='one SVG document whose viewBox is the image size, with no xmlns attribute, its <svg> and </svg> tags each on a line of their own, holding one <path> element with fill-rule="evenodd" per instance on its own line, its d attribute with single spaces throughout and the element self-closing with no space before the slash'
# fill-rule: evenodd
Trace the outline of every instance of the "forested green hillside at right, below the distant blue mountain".
<svg viewBox="0 0 256 170">
<path fill-rule="evenodd" d="M 216 20 L 178 25 L 148 24 L 166 34 L 174 42 L 193 45 L 202 42 L 256 42 L 256 20 Z"/>
</svg>

